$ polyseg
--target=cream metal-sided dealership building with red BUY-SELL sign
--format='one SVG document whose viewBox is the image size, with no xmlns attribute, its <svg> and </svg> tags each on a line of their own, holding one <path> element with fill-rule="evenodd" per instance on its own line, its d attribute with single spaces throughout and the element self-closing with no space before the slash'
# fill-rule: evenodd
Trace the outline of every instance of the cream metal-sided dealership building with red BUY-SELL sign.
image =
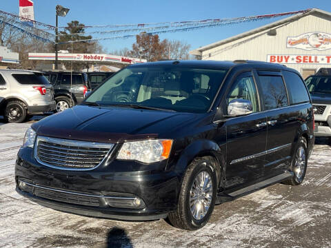
<svg viewBox="0 0 331 248">
<path fill-rule="evenodd" d="M 312 9 L 190 51 L 197 59 L 281 63 L 303 78 L 331 68 L 331 12 Z"/>
</svg>

